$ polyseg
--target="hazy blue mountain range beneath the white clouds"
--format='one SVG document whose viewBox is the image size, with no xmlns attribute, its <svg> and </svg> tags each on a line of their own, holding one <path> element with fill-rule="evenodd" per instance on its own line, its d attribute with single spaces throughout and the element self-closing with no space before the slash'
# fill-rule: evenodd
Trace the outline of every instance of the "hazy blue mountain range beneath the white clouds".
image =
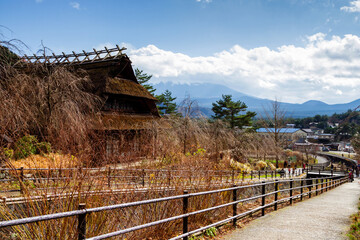
<svg viewBox="0 0 360 240">
<path fill-rule="evenodd" d="M 272 100 L 257 98 L 238 92 L 220 84 L 173 84 L 160 83 L 154 85 L 156 94 L 164 92 L 166 89 L 177 97 L 176 102 L 180 104 L 185 96 L 189 95 L 191 99 L 196 100 L 200 106 L 201 112 L 206 116 L 211 116 L 212 103 L 219 100 L 223 94 L 230 94 L 234 100 L 245 102 L 249 111 L 254 111 L 257 116 L 264 115 L 264 109 L 268 110 Z M 303 118 L 313 117 L 316 114 L 332 115 L 334 113 L 343 113 L 349 109 L 355 109 L 360 105 L 360 99 L 350 103 L 327 104 L 318 100 L 310 100 L 302 104 L 281 102 L 281 107 L 287 112 L 288 117 Z"/>
</svg>

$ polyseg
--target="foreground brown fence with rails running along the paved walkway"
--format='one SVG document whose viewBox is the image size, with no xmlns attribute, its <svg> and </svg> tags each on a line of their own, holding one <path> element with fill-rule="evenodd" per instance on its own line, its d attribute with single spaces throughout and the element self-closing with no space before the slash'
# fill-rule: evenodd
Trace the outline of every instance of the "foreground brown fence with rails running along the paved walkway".
<svg viewBox="0 0 360 240">
<path fill-rule="evenodd" d="M 78 239 L 106 239 L 110 237 L 119 236 L 125 233 L 134 232 L 140 229 L 149 228 L 152 226 L 156 226 L 165 222 L 171 222 L 175 220 L 182 219 L 182 234 L 178 235 L 176 237 L 173 237 L 171 239 L 188 239 L 189 236 L 193 235 L 194 233 L 206 230 L 210 227 L 217 226 L 219 224 L 223 224 L 226 222 L 232 221 L 232 223 L 235 225 L 236 221 L 242 217 L 248 216 L 250 214 L 253 214 L 255 212 L 261 211 L 261 215 L 265 215 L 265 209 L 274 207 L 274 210 L 278 209 L 278 205 L 289 202 L 290 204 L 293 203 L 295 199 L 303 200 L 304 197 L 311 198 L 313 194 L 318 195 L 323 193 L 324 191 L 328 191 L 329 189 L 335 188 L 347 181 L 346 177 L 334 179 L 332 177 L 325 177 L 325 178 L 311 178 L 311 179 L 284 179 L 284 180 L 274 180 L 270 182 L 262 182 L 252 185 L 242 185 L 237 186 L 234 185 L 231 188 L 225 188 L 225 189 L 218 189 L 218 190 L 211 190 L 211 191 L 205 191 L 205 192 L 197 192 L 197 193 L 188 193 L 187 191 L 184 191 L 183 195 L 176 195 L 176 196 L 170 196 L 170 197 L 163 197 L 163 198 L 156 198 L 156 199 L 150 199 L 150 200 L 143 200 L 143 201 L 137 201 L 137 202 L 130 202 L 130 203 L 122 203 L 122 204 L 116 204 L 116 205 L 109 205 L 109 206 L 103 206 L 103 207 L 96 207 L 96 208 L 86 208 L 84 204 L 79 205 L 79 210 L 75 211 L 69 211 L 69 212 L 62 212 L 62 213 L 56 213 L 56 214 L 48 214 L 43 216 L 36 216 L 36 217 L 28 217 L 23 219 L 15 219 L 10 221 L 2 221 L 0 222 L 0 228 L 4 227 L 13 227 L 18 225 L 24 225 L 24 224 L 31 224 L 36 223 L 40 221 L 49 221 L 53 219 L 59 219 L 59 218 L 65 218 L 65 217 L 77 217 L 78 218 Z M 282 188 L 281 186 L 285 186 L 285 184 L 289 184 L 288 188 Z M 297 186 L 296 186 L 297 185 Z M 238 193 L 241 189 L 256 189 L 261 188 L 260 194 L 254 194 L 250 197 L 239 199 Z M 267 191 L 267 189 L 269 189 Z M 300 190 L 300 193 L 296 194 L 296 191 Z M 193 212 L 189 212 L 189 199 L 196 198 L 203 195 L 211 195 L 216 193 L 223 193 L 223 192 L 229 192 L 232 194 L 232 201 L 229 201 L 228 203 L 211 206 L 206 209 L 201 210 L 195 210 Z M 289 196 L 279 199 L 279 193 L 288 192 Z M 295 193 L 295 194 L 294 194 Z M 272 197 L 274 200 L 272 200 Z M 87 226 L 87 216 L 89 214 L 94 214 L 96 212 L 103 212 L 103 211 L 111 211 L 115 209 L 126 209 L 129 207 L 134 206 L 142 206 L 142 205 L 148 205 L 152 203 L 159 203 L 159 202 L 169 202 L 174 200 L 182 200 L 183 205 L 183 213 L 176 216 L 171 216 L 168 218 L 160 219 L 157 221 L 152 221 L 150 223 L 137 225 L 125 229 L 121 229 L 118 231 L 102 234 L 99 236 L 93 236 L 91 238 L 86 238 L 86 230 L 88 228 L 91 228 L 92 226 Z M 258 207 L 255 207 L 251 210 L 238 213 L 238 204 L 239 203 L 246 203 L 249 201 L 261 199 L 261 205 Z M 272 200 L 269 203 L 266 203 L 266 200 Z M 220 208 L 230 207 L 232 206 L 232 216 L 227 217 L 226 219 L 222 219 L 220 221 L 217 221 L 215 223 L 209 224 L 207 226 L 203 226 L 197 229 L 189 230 L 189 217 L 195 216 L 204 212 L 209 212 L 213 210 L 217 210 Z M 146 213 L 144 213 L 146 214 Z"/>
</svg>

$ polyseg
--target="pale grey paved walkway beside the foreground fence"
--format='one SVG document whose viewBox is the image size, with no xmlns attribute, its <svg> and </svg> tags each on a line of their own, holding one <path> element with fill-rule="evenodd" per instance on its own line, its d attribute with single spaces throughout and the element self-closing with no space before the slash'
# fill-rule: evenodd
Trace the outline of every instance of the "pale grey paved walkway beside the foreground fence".
<svg viewBox="0 0 360 240">
<path fill-rule="evenodd" d="M 357 211 L 360 180 L 330 190 L 317 197 L 271 212 L 242 229 L 224 236 L 226 240 L 341 240 Z"/>
</svg>

